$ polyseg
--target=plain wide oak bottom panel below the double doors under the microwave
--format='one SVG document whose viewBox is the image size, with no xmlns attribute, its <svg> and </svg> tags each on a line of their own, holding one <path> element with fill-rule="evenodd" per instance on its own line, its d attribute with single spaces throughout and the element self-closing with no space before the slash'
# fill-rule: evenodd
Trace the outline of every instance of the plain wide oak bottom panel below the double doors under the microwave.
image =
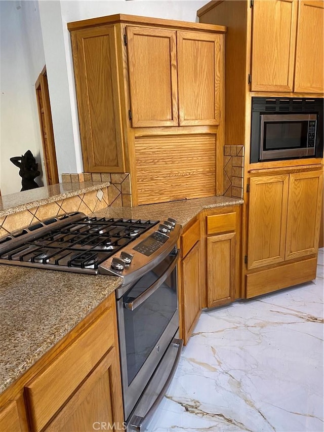
<svg viewBox="0 0 324 432">
<path fill-rule="evenodd" d="M 317 258 L 280 265 L 246 276 L 246 297 L 270 293 L 312 281 L 316 277 Z"/>
</svg>

